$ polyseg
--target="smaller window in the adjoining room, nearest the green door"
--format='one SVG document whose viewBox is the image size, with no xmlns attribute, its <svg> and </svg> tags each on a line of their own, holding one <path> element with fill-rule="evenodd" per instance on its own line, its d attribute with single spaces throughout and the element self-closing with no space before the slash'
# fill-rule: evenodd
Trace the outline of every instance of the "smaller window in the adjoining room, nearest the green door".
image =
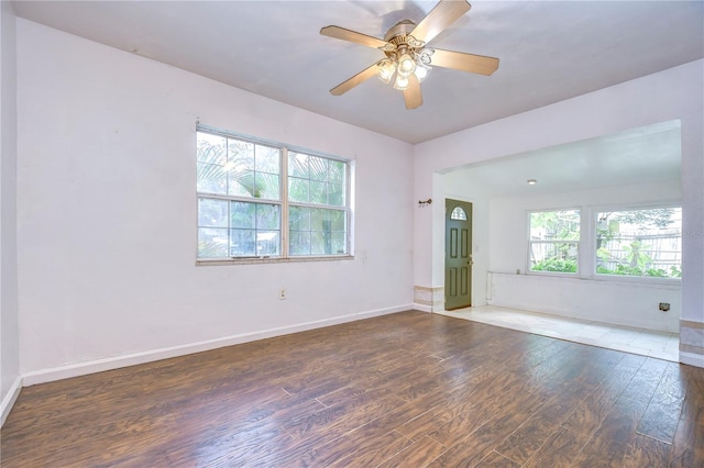
<svg viewBox="0 0 704 468">
<path fill-rule="evenodd" d="M 580 210 L 537 211 L 529 218 L 529 269 L 575 274 L 580 252 Z"/>
</svg>

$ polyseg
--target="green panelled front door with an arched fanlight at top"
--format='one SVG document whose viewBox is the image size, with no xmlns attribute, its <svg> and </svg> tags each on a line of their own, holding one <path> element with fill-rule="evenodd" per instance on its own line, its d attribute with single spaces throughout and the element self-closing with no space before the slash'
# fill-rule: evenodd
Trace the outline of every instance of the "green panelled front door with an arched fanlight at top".
<svg viewBox="0 0 704 468">
<path fill-rule="evenodd" d="M 472 305 L 472 203 L 446 200 L 444 309 Z"/>
</svg>

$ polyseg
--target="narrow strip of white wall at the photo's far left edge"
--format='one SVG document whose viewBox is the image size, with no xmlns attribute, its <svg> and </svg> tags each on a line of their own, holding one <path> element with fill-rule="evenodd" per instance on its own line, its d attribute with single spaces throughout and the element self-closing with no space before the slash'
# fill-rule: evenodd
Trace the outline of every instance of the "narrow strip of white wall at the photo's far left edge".
<svg viewBox="0 0 704 468">
<path fill-rule="evenodd" d="M 12 4 L 0 3 L 0 424 L 20 390 L 16 258 L 16 63 Z"/>
</svg>

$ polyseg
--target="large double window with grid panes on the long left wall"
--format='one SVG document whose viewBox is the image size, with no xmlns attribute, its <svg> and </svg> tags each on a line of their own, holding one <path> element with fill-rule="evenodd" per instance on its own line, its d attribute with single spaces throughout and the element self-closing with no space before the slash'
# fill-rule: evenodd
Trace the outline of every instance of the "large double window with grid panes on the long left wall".
<svg viewBox="0 0 704 468">
<path fill-rule="evenodd" d="M 198 258 L 350 254 L 350 164 L 197 131 Z"/>
</svg>

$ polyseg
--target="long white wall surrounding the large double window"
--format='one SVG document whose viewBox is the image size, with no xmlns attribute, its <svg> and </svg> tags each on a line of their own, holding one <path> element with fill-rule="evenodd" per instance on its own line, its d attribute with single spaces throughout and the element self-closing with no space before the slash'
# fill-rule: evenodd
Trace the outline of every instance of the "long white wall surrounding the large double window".
<svg viewBox="0 0 704 468">
<path fill-rule="evenodd" d="M 18 47 L 25 383 L 410 308 L 409 144 L 24 20 Z M 197 119 L 355 159 L 356 258 L 196 267 Z"/>
</svg>

